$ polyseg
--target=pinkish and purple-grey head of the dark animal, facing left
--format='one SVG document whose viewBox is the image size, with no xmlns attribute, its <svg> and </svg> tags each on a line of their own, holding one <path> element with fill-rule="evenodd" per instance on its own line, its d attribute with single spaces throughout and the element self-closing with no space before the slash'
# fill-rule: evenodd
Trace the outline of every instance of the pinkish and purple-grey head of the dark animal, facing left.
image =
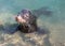
<svg viewBox="0 0 65 46">
<path fill-rule="evenodd" d="M 15 17 L 17 22 L 28 22 L 29 18 L 31 15 L 31 11 L 30 10 L 22 10 L 18 15 Z"/>
</svg>

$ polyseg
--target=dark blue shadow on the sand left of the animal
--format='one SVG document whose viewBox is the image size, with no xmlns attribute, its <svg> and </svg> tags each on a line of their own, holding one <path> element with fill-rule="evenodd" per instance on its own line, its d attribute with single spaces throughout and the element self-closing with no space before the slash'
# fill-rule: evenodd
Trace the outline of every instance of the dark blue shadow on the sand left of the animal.
<svg viewBox="0 0 65 46">
<path fill-rule="evenodd" d="M 13 34 L 15 33 L 17 30 L 16 30 L 16 27 L 17 27 L 17 24 L 12 24 L 12 25 L 0 25 L 0 31 L 2 31 L 3 33 L 8 33 L 8 34 Z"/>
</svg>

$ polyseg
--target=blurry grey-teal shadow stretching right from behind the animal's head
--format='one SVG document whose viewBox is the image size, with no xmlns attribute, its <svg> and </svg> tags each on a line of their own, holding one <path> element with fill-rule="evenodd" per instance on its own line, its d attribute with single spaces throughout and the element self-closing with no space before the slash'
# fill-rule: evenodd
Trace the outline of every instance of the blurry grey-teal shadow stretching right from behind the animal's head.
<svg viewBox="0 0 65 46">
<path fill-rule="evenodd" d="M 52 16 L 53 12 L 48 7 L 43 6 L 38 10 L 32 10 L 32 13 L 39 17 L 40 15 Z"/>
</svg>

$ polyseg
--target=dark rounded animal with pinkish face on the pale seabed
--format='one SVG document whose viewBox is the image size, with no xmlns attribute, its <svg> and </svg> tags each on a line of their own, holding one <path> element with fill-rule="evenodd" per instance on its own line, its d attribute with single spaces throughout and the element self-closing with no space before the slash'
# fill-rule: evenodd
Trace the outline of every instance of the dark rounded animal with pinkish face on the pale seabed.
<svg viewBox="0 0 65 46">
<path fill-rule="evenodd" d="M 37 31 L 37 17 L 32 15 L 29 10 L 22 10 L 15 17 L 15 20 L 20 24 L 17 27 L 24 33 Z"/>
</svg>

